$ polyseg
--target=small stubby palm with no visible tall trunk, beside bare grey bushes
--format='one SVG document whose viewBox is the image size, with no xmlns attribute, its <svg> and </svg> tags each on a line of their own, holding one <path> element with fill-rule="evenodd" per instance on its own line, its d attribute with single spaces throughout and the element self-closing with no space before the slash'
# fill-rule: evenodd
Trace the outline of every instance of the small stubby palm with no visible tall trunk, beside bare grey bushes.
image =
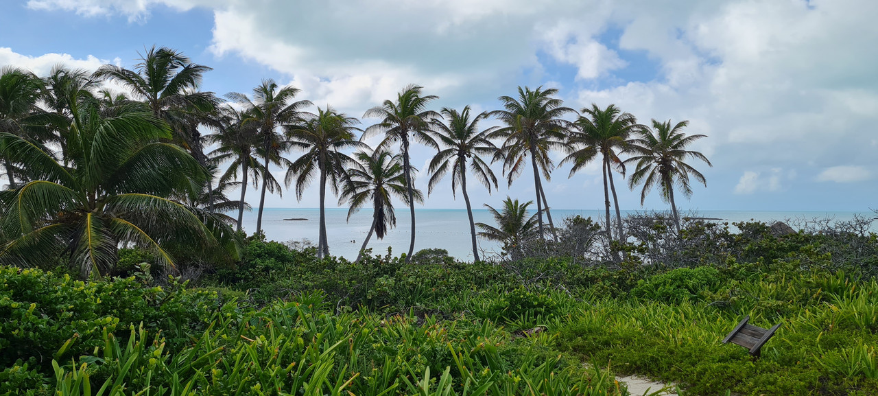
<svg viewBox="0 0 878 396">
<path fill-rule="evenodd" d="M 534 201 L 519 204 L 518 199 L 507 197 L 503 201 L 503 207 L 497 211 L 491 205 L 485 205 L 497 222 L 497 227 L 485 223 L 476 223 L 482 231 L 479 236 L 489 241 L 503 242 L 503 250 L 507 252 L 521 252 L 522 242 L 536 237 L 542 237 L 539 228 L 539 213 L 529 215 L 528 206 Z"/>
</svg>

